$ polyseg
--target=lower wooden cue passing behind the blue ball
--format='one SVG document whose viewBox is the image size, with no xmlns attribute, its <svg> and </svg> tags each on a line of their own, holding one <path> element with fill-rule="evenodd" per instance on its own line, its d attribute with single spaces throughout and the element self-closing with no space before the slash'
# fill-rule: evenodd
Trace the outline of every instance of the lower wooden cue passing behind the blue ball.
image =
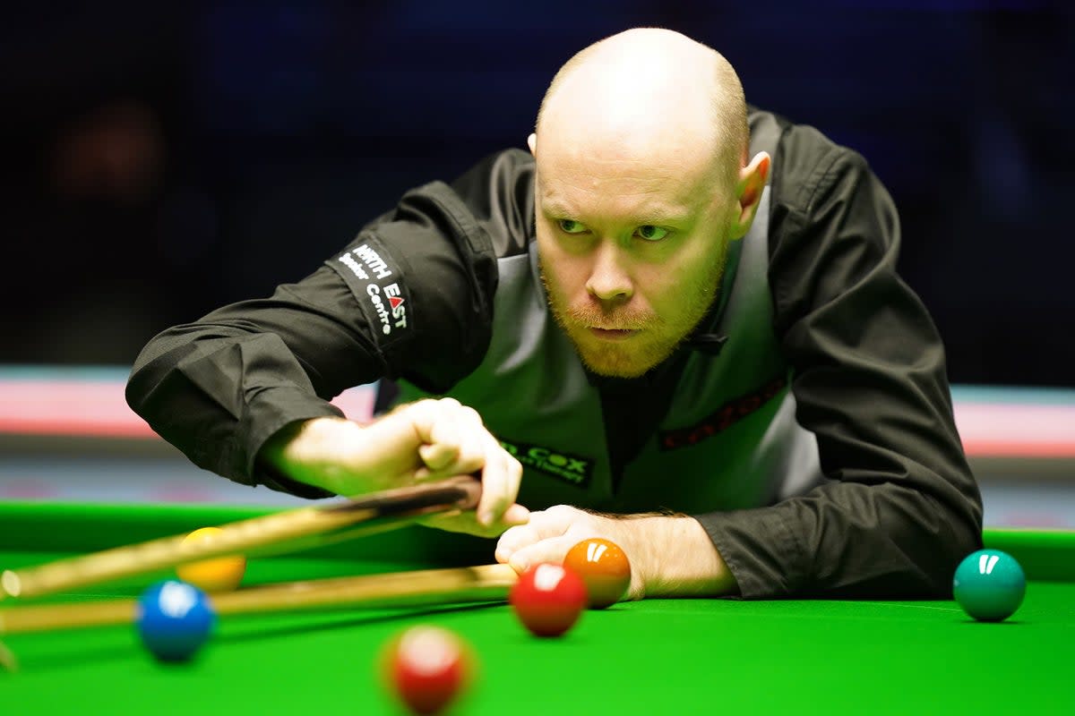
<svg viewBox="0 0 1075 716">
<path fill-rule="evenodd" d="M 266 584 L 211 594 L 218 616 L 326 608 L 396 609 L 502 601 L 518 581 L 508 565 L 452 567 Z M 32 604 L 0 609 L 0 634 L 133 623 L 137 599 Z"/>
</svg>

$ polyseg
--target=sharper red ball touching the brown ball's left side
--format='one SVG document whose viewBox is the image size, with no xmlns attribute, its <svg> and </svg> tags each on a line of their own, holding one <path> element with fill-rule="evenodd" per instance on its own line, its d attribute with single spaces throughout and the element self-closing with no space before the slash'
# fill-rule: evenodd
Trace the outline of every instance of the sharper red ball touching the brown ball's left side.
<svg viewBox="0 0 1075 716">
<path fill-rule="evenodd" d="M 561 565 L 541 564 L 519 575 L 507 600 L 531 633 L 559 637 L 586 608 L 586 584 Z"/>
</svg>

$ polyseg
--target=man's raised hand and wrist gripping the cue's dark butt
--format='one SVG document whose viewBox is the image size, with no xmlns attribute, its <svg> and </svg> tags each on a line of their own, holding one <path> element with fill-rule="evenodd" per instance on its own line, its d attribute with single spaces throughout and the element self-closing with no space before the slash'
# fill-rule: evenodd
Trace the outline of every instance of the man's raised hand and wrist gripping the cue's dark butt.
<svg viewBox="0 0 1075 716">
<path fill-rule="evenodd" d="M 479 473 L 474 513 L 425 521 L 442 529 L 492 537 L 529 516 L 515 502 L 522 466 L 473 408 L 454 398 L 400 406 L 368 425 L 343 418 L 298 423 L 270 438 L 262 457 L 293 480 L 346 496 Z"/>
</svg>

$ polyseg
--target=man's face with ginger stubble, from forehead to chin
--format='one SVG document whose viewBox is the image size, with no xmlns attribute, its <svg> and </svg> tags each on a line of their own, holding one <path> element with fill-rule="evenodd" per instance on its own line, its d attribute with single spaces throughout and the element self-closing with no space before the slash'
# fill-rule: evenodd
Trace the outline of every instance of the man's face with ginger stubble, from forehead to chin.
<svg viewBox="0 0 1075 716">
<path fill-rule="evenodd" d="M 732 188 L 698 152 L 658 162 L 545 143 L 536 157 L 538 248 L 553 315 L 590 370 L 641 376 L 713 304 Z"/>
</svg>

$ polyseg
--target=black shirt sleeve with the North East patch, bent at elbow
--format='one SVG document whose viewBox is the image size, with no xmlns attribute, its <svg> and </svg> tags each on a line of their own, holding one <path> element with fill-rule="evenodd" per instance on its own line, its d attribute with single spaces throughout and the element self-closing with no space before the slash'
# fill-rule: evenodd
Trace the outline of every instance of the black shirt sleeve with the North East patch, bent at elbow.
<svg viewBox="0 0 1075 716">
<path fill-rule="evenodd" d="M 196 465 L 244 484 L 325 493 L 269 474 L 261 445 L 290 423 L 339 415 L 353 385 L 406 377 L 444 389 L 489 340 L 496 258 L 452 187 L 408 192 L 302 280 L 154 337 L 127 401 Z"/>
</svg>

